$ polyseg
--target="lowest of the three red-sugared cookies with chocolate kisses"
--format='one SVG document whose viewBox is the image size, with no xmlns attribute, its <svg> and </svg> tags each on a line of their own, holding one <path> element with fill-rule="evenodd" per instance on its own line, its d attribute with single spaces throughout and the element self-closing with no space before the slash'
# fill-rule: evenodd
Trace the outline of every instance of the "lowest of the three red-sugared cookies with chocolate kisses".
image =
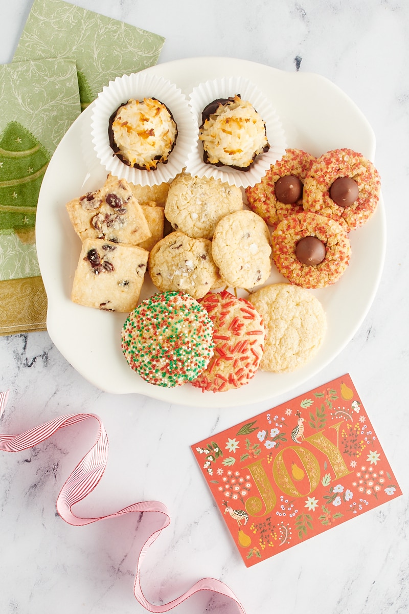
<svg viewBox="0 0 409 614">
<path fill-rule="evenodd" d="M 346 230 L 329 217 L 307 212 L 278 224 L 272 233 L 272 249 L 280 273 L 304 288 L 335 284 L 351 257 Z"/>
</svg>

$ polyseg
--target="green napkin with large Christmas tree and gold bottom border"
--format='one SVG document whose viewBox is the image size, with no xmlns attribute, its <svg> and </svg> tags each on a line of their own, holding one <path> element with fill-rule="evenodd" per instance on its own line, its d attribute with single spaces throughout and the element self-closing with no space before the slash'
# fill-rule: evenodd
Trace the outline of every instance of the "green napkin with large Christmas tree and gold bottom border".
<svg viewBox="0 0 409 614">
<path fill-rule="evenodd" d="M 6 334 L 45 327 L 45 293 L 36 279 L 37 200 L 48 162 L 81 106 L 73 60 L 0 65 L 0 84 L 0 334 Z"/>
</svg>

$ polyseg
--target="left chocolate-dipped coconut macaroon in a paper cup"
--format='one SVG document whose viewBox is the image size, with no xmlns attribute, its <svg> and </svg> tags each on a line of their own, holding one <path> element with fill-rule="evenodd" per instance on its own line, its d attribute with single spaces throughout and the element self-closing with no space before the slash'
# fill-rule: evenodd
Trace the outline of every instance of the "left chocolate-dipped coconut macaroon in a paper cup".
<svg viewBox="0 0 409 614">
<path fill-rule="evenodd" d="M 111 115 L 109 139 L 124 164 L 153 171 L 159 162 L 167 162 L 177 139 L 177 125 L 156 98 L 130 99 Z"/>
</svg>

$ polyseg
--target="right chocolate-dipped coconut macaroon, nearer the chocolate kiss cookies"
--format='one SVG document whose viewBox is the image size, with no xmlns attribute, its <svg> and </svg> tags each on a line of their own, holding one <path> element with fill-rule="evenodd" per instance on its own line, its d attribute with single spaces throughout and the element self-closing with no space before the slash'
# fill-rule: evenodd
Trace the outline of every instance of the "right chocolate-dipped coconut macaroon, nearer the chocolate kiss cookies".
<svg viewBox="0 0 409 614">
<path fill-rule="evenodd" d="M 199 130 L 207 164 L 247 171 L 259 153 L 270 149 L 266 124 L 250 104 L 237 94 L 205 107 Z"/>
</svg>

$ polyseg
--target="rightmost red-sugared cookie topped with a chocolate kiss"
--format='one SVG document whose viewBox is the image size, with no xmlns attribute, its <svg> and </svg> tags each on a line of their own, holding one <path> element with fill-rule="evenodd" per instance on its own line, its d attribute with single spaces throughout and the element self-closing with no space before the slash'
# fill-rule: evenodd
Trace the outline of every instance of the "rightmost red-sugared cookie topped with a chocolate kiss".
<svg viewBox="0 0 409 614">
<path fill-rule="evenodd" d="M 312 165 L 304 183 L 303 206 L 353 230 L 372 216 L 380 190 L 380 176 L 370 160 L 352 149 L 335 149 Z"/>
</svg>

